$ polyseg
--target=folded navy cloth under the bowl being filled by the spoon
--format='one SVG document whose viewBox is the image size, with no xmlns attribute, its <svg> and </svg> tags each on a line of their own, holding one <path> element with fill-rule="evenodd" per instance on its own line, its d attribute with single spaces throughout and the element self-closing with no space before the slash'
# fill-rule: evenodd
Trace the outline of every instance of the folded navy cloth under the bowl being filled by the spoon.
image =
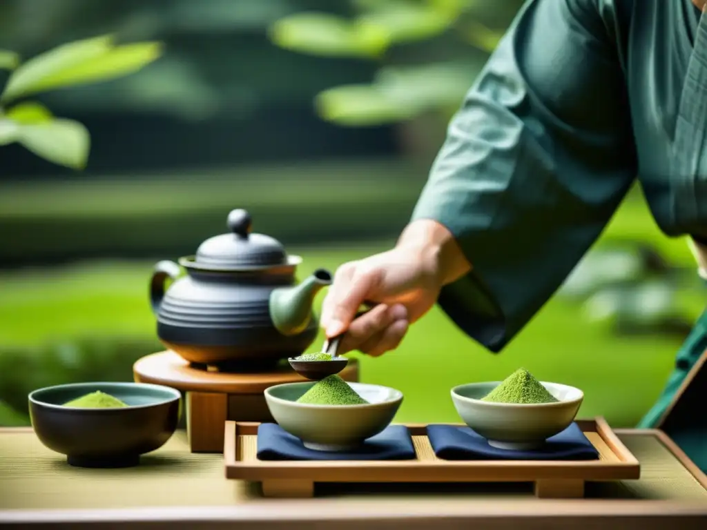
<svg viewBox="0 0 707 530">
<path fill-rule="evenodd" d="M 416 457 L 412 438 L 404 425 L 389 425 L 351 452 L 307 449 L 298 437 L 276 423 L 258 426 L 260 460 L 411 460 Z"/>
</svg>

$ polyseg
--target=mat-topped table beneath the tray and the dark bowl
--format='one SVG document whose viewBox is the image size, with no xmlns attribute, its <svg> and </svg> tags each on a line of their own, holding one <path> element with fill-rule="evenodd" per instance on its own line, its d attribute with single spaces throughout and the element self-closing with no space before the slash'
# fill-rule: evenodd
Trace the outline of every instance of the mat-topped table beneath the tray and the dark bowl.
<svg viewBox="0 0 707 530">
<path fill-rule="evenodd" d="M 76 469 L 32 430 L 0 429 L 0 524 L 71 529 L 707 529 L 707 476 L 660 430 L 620 430 L 639 481 L 590 483 L 583 500 L 539 500 L 530 485 L 332 485 L 268 500 L 224 478 L 223 457 L 175 436 L 132 469 Z M 70 480 L 71 479 L 71 480 Z M 323 495 L 322 495 L 323 494 Z M 22 524 L 22 526 L 16 526 Z"/>
</svg>

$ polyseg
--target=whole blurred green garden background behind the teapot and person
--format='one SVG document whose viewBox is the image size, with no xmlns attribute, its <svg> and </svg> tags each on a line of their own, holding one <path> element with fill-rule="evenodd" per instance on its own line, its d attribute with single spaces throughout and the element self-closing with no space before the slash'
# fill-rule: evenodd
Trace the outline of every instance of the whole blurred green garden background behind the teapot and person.
<svg viewBox="0 0 707 530">
<path fill-rule="evenodd" d="M 232 208 L 304 258 L 300 277 L 395 241 L 446 122 L 521 2 L 329 4 L 0 8 L 1 47 L 23 57 L 103 33 L 165 50 L 134 75 L 42 95 L 90 131 L 83 172 L 1 148 L 0 425 L 28 424 L 33 389 L 131 380 L 132 363 L 160 350 L 153 264 L 224 232 Z M 371 40 L 359 19 L 390 38 Z M 686 242 L 661 234 L 635 189 L 506 351 L 484 351 L 435 309 L 397 351 L 361 357 L 361 377 L 404 392 L 399 421 L 454 421 L 452 386 L 523 366 L 583 389 L 581 416 L 634 425 L 703 309 L 694 269 Z"/>
</svg>

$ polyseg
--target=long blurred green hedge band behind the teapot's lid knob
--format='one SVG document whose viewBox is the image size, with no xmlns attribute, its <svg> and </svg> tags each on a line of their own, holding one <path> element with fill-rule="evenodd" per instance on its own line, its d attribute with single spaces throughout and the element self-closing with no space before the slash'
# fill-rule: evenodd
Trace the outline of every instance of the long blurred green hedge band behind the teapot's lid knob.
<svg viewBox="0 0 707 530">
<path fill-rule="evenodd" d="M 409 163 L 339 160 L 6 184 L 0 269 L 192 254 L 226 229 L 235 200 L 286 245 L 395 238 L 425 180 Z"/>
</svg>

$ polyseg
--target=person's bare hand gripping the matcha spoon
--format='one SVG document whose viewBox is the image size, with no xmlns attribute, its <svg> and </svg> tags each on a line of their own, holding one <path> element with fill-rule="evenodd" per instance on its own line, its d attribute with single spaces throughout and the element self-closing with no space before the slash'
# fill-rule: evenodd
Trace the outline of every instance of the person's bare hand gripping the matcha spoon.
<svg viewBox="0 0 707 530">
<path fill-rule="evenodd" d="M 442 259 L 450 256 L 450 245 L 453 259 Z M 409 324 L 431 309 L 443 285 L 468 269 L 448 230 L 418 221 L 395 248 L 339 267 L 322 306 L 321 325 L 329 338 L 346 331 L 339 353 L 382 355 L 397 348 Z M 375 307 L 356 318 L 363 304 Z"/>
</svg>

